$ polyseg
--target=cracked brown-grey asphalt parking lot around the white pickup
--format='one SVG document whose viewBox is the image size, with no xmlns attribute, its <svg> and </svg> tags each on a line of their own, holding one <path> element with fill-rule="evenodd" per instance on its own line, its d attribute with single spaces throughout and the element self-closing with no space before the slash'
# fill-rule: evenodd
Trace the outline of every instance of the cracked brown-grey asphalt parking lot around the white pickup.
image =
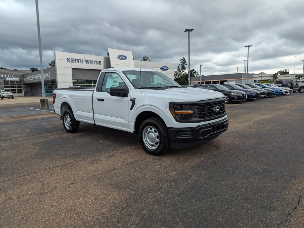
<svg viewBox="0 0 304 228">
<path fill-rule="evenodd" d="M 159 157 L 131 133 L 69 134 L 26 110 L 39 104 L 0 103 L 0 227 L 304 227 L 303 101 L 227 105 L 228 131 Z"/>
</svg>

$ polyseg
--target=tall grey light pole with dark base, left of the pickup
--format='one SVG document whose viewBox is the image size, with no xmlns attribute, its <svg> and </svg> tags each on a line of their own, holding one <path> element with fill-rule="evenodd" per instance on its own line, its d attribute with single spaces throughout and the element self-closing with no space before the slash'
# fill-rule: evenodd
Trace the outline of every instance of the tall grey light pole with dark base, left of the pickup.
<svg viewBox="0 0 304 228">
<path fill-rule="evenodd" d="M 39 22 L 38 0 L 36 0 L 36 16 L 37 16 L 39 58 L 40 58 L 40 75 L 41 75 L 41 90 L 42 90 L 42 99 L 40 99 L 40 109 L 48 109 L 49 108 L 49 100 L 45 98 L 45 91 L 44 91 L 44 75 L 43 75 L 43 64 L 42 64 L 42 50 L 41 50 L 41 37 L 40 37 L 40 22 Z"/>
</svg>

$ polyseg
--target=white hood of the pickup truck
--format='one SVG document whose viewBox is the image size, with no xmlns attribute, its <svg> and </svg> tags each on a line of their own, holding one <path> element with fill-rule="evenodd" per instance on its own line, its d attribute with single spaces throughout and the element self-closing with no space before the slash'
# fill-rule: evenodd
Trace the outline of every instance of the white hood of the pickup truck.
<svg viewBox="0 0 304 228">
<path fill-rule="evenodd" d="M 172 98 L 174 100 L 177 99 L 179 102 L 195 102 L 216 98 L 224 98 L 224 95 L 220 92 L 192 87 L 168 89 L 142 89 L 141 92 L 145 95 L 155 97 Z"/>
</svg>

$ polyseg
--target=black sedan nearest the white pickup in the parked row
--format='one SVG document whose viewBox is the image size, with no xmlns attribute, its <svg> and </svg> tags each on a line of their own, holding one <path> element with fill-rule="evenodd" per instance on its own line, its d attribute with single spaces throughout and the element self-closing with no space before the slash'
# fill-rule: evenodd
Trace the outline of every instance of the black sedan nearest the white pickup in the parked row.
<svg viewBox="0 0 304 228">
<path fill-rule="evenodd" d="M 225 104 L 229 104 L 230 102 L 240 102 L 247 100 L 247 94 L 245 92 L 238 90 L 229 90 L 225 86 L 219 84 L 196 85 L 193 87 L 221 92 L 223 95 L 225 95 Z"/>
</svg>

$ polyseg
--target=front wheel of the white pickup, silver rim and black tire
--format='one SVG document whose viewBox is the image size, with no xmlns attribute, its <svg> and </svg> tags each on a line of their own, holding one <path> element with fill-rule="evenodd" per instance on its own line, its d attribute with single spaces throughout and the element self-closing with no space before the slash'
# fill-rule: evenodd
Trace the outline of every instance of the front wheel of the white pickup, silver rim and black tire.
<svg viewBox="0 0 304 228">
<path fill-rule="evenodd" d="M 170 148 L 167 126 L 156 117 L 144 120 L 139 127 L 140 144 L 151 155 L 161 155 Z"/>
</svg>

